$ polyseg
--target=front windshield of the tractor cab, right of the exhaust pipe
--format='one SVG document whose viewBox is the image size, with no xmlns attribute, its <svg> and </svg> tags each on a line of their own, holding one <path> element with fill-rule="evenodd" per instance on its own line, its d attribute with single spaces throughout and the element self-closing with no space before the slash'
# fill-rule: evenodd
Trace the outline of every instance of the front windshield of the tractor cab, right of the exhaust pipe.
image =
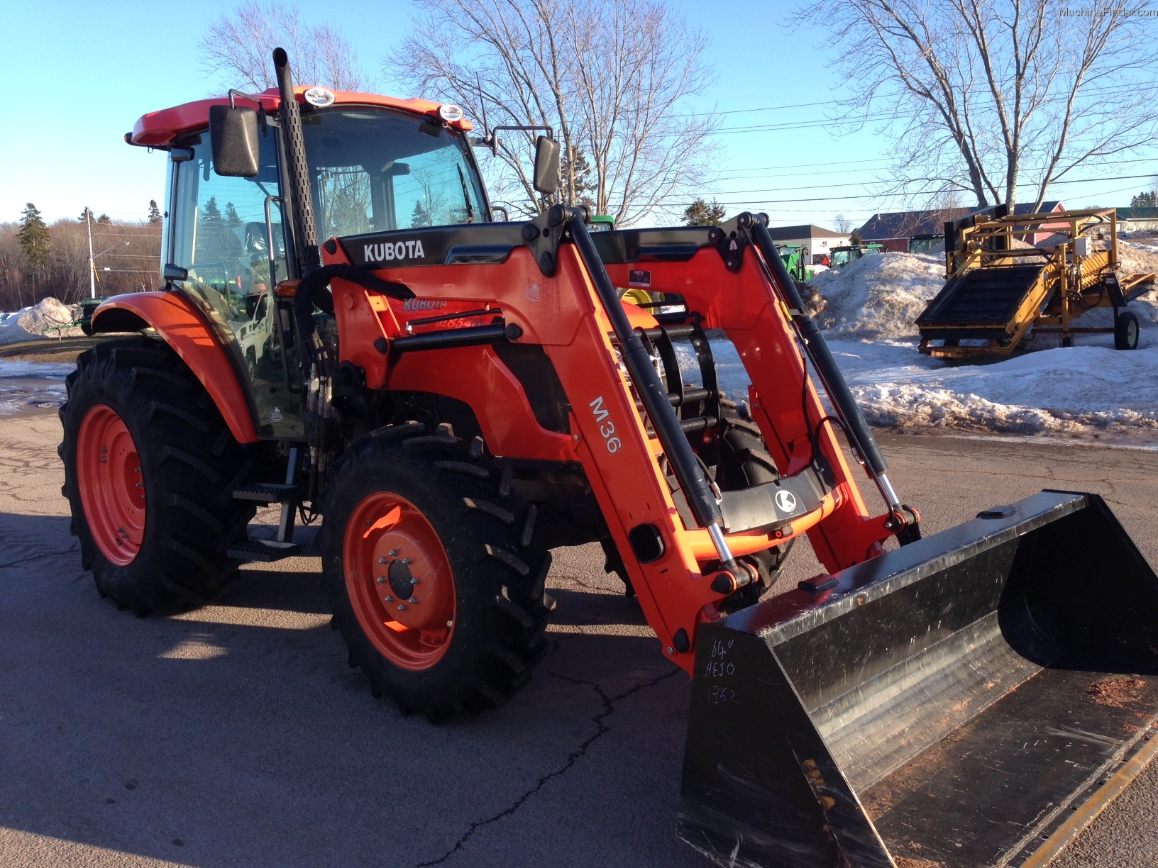
<svg viewBox="0 0 1158 868">
<path fill-rule="evenodd" d="M 371 106 L 302 112 L 318 240 L 490 218 L 466 137 Z"/>
</svg>

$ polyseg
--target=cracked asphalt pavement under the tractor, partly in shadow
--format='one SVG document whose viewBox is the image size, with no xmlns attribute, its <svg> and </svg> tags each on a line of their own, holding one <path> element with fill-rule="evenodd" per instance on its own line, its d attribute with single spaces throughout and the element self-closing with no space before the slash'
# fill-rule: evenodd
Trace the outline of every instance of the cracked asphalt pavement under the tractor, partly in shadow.
<svg viewBox="0 0 1158 868">
<path fill-rule="evenodd" d="M 708 865 L 675 837 L 689 681 L 598 546 L 556 552 L 530 684 L 432 726 L 346 665 L 316 559 L 248 567 L 221 605 L 173 618 L 100 599 L 59 439 L 54 414 L 0 421 L 0 866 Z M 926 532 L 1093 491 L 1158 564 L 1156 453 L 881 441 Z M 818 569 L 798 546 L 784 581 Z M 1158 865 L 1156 796 L 1158 764 L 1055 865 Z"/>
</svg>

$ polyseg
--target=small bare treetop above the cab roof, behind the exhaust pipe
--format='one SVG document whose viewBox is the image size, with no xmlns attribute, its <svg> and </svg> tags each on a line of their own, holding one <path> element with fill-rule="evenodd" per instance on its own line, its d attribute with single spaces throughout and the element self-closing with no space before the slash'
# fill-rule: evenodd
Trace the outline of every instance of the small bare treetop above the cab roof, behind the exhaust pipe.
<svg viewBox="0 0 1158 868">
<path fill-rule="evenodd" d="M 206 71 L 247 90 L 276 87 L 270 57 L 278 45 L 290 53 L 294 83 L 336 90 L 367 86 L 357 52 L 340 31 L 329 24 L 303 24 L 296 6 L 248 0 L 210 22 L 197 41 Z"/>
</svg>

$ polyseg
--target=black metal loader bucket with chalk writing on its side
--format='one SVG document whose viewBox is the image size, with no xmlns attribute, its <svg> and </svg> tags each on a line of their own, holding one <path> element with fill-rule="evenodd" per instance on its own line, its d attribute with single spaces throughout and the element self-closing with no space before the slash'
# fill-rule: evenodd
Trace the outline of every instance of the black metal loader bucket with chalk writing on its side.
<svg viewBox="0 0 1158 868">
<path fill-rule="evenodd" d="M 1158 750 L 1158 578 L 1098 495 L 834 579 L 701 627 L 679 834 L 718 863 L 1045 865 Z"/>
</svg>

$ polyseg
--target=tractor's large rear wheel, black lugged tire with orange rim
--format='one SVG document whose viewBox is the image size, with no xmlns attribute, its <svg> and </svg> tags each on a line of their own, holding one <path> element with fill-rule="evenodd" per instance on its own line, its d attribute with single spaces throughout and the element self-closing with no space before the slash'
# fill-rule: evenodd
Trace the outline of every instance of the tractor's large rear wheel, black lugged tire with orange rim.
<svg viewBox="0 0 1158 868">
<path fill-rule="evenodd" d="M 67 387 L 61 493 L 97 591 L 141 617 L 218 598 L 254 507 L 233 500 L 248 465 L 204 387 L 144 337 L 82 353 Z"/>
</svg>

